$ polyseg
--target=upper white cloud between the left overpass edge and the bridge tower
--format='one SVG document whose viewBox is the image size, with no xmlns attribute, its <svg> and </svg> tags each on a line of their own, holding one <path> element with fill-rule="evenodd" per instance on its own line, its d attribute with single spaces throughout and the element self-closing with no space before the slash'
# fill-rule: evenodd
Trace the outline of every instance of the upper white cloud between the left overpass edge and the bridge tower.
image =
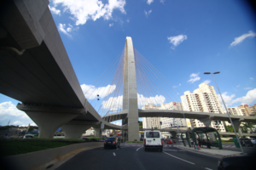
<svg viewBox="0 0 256 170">
<path fill-rule="evenodd" d="M 112 94 L 116 86 L 108 85 L 107 87 L 96 88 L 95 86 L 83 84 L 81 85 L 81 88 L 86 99 L 96 99 L 97 94 L 100 95 L 100 98 L 104 98 L 108 96 L 108 94 Z"/>
</svg>

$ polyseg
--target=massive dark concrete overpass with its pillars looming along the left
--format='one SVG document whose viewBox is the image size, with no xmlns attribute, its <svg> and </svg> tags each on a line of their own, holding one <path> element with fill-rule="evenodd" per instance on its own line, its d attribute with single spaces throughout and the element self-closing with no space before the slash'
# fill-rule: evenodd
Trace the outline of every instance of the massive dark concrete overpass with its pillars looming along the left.
<svg viewBox="0 0 256 170">
<path fill-rule="evenodd" d="M 78 138 L 105 122 L 84 98 L 49 1 L 4 1 L 0 7 L 0 93 L 19 100 L 37 123 L 39 138 L 53 138 L 58 127 Z"/>
</svg>

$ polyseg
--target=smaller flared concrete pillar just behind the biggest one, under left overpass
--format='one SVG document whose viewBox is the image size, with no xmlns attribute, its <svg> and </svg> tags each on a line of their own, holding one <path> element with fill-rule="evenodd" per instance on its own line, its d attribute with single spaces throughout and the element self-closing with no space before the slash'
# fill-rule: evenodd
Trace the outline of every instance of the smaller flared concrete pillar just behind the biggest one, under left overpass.
<svg viewBox="0 0 256 170">
<path fill-rule="evenodd" d="M 61 126 L 65 133 L 65 139 L 79 139 L 91 125 L 66 123 Z"/>
</svg>

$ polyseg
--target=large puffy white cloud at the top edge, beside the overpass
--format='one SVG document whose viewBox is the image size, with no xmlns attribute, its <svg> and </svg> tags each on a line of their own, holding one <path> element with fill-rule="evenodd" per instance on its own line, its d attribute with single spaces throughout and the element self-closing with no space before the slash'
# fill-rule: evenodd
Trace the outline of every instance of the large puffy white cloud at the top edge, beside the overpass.
<svg viewBox="0 0 256 170">
<path fill-rule="evenodd" d="M 64 7 L 64 12 L 69 12 L 73 15 L 76 25 L 84 25 L 87 20 L 97 20 L 104 18 L 104 20 L 112 19 L 113 9 L 119 9 L 121 13 L 125 13 L 125 0 L 108 0 L 104 4 L 99 0 L 53 0 L 56 5 Z"/>
</svg>

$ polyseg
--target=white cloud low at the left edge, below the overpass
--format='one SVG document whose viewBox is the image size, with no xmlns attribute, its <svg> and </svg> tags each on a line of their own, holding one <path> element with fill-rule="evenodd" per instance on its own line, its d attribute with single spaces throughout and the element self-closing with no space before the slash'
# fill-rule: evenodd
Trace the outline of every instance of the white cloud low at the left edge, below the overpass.
<svg viewBox="0 0 256 170">
<path fill-rule="evenodd" d="M 35 124 L 24 111 L 20 111 L 16 108 L 12 102 L 3 102 L 0 104 L 0 122 L 2 126 L 5 126 L 10 121 L 10 125 L 25 125 L 29 123 Z"/>
</svg>

